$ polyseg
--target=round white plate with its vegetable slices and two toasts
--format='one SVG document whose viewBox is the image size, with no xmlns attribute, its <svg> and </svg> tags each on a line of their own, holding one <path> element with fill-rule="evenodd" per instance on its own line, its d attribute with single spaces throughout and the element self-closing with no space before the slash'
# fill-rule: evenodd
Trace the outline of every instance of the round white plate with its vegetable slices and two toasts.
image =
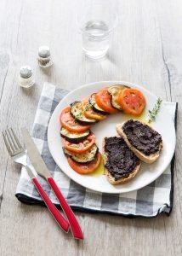
<svg viewBox="0 0 182 256">
<path fill-rule="evenodd" d="M 101 193 L 141 189 L 173 158 L 175 128 L 165 103 L 125 81 L 68 93 L 48 124 L 54 161 L 74 182 Z"/>
</svg>

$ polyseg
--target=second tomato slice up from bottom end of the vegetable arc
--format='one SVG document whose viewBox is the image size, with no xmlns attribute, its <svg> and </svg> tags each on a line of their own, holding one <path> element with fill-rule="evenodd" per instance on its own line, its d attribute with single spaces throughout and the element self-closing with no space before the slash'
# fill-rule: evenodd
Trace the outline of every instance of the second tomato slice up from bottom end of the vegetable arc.
<svg viewBox="0 0 182 256">
<path fill-rule="evenodd" d="M 62 138 L 62 141 L 65 149 L 70 150 L 71 152 L 84 153 L 94 144 L 95 136 L 93 133 L 90 134 L 84 141 L 82 141 L 82 143 L 69 143 L 65 138 Z"/>
</svg>

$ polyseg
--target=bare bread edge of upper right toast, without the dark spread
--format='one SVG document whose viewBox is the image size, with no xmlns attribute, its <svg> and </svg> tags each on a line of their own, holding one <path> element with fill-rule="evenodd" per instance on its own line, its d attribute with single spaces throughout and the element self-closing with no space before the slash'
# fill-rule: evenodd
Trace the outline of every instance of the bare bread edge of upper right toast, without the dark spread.
<svg viewBox="0 0 182 256">
<path fill-rule="evenodd" d="M 134 145 L 132 145 L 129 141 L 128 141 L 128 137 L 126 135 L 126 133 L 123 131 L 122 126 L 128 121 L 123 122 L 122 124 L 116 125 L 116 129 L 117 129 L 117 133 L 118 135 L 122 136 L 122 138 L 124 139 L 125 143 L 127 143 L 128 148 L 130 148 L 134 154 L 142 161 L 144 161 L 147 164 L 151 164 L 153 162 L 155 162 L 158 157 L 161 154 L 162 148 L 163 148 L 163 143 L 161 142 L 159 144 L 159 149 L 158 151 L 156 151 L 153 154 L 149 154 L 146 155 L 145 153 L 139 151 L 137 148 L 134 147 Z M 140 123 L 142 123 L 143 125 L 147 125 L 144 122 L 139 121 Z M 149 125 L 148 125 L 149 126 Z M 151 128 L 151 126 L 149 126 Z M 153 128 L 151 128 L 151 130 L 155 131 Z"/>
</svg>

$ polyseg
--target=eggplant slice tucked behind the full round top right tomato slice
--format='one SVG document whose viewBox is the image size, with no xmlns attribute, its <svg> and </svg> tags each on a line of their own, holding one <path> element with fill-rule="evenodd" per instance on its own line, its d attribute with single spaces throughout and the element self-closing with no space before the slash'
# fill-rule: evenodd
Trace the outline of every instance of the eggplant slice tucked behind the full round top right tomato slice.
<svg viewBox="0 0 182 256">
<path fill-rule="evenodd" d="M 113 85 L 108 88 L 108 92 L 111 95 L 111 105 L 113 108 L 116 108 L 117 110 L 122 111 L 122 107 L 118 103 L 118 96 L 121 90 L 129 88 L 128 86 L 125 85 Z"/>
</svg>

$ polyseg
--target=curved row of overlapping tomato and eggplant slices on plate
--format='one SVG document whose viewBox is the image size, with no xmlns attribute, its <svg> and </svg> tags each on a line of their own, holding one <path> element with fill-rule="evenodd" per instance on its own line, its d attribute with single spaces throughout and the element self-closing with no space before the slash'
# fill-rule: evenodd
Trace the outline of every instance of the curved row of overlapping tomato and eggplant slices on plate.
<svg viewBox="0 0 182 256">
<path fill-rule="evenodd" d="M 125 85 L 113 85 L 73 102 L 60 113 L 60 136 L 71 168 L 81 174 L 94 172 L 100 165 L 101 154 L 95 144 L 91 125 L 111 113 L 124 111 L 139 115 L 145 108 L 145 96 Z"/>
</svg>

